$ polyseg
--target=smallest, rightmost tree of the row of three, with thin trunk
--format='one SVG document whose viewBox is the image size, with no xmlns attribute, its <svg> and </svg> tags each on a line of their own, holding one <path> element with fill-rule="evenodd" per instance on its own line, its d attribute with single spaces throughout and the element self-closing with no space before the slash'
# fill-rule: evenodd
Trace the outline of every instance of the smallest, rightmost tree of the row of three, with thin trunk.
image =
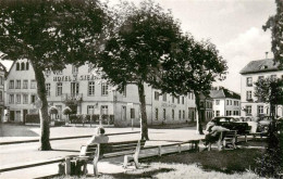
<svg viewBox="0 0 283 179">
<path fill-rule="evenodd" d="M 197 129 L 202 135 L 200 95 L 209 94 L 213 81 L 224 79 L 226 62 L 210 41 L 195 41 L 190 35 L 185 35 L 162 66 L 162 91 L 171 91 L 175 95 L 194 92 L 198 112 Z"/>
</svg>

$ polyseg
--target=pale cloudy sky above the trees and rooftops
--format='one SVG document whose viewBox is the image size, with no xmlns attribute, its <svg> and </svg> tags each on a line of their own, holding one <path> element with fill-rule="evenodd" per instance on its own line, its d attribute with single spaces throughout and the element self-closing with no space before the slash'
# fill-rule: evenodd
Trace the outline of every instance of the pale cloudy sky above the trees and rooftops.
<svg viewBox="0 0 283 179">
<path fill-rule="evenodd" d="M 140 0 L 132 0 L 138 3 Z M 110 0 L 112 4 L 118 0 Z M 227 61 L 226 79 L 214 84 L 241 92 L 239 71 L 250 61 L 273 57 L 271 33 L 262 25 L 275 14 L 274 0 L 155 0 L 171 10 L 183 31 L 197 40 L 210 39 Z M 9 68 L 12 62 L 2 61 Z"/>
</svg>

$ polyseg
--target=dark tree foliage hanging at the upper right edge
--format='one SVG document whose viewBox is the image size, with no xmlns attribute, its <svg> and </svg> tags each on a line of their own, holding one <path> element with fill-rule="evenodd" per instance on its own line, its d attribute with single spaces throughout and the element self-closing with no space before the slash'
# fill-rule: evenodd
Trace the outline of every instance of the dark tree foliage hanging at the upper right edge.
<svg viewBox="0 0 283 179">
<path fill-rule="evenodd" d="M 275 0 L 275 3 L 276 14 L 269 17 L 263 29 L 271 30 L 271 50 L 274 54 L 274 61 L 280 62 L 281 67 L 283 67 L 283 1 Z"/>
</svg>

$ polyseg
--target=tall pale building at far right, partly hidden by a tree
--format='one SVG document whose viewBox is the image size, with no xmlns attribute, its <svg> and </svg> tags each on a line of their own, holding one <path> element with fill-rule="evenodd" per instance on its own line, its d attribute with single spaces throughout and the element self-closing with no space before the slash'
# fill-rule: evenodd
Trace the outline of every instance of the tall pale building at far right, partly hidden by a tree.
<svg viewBox="0 0 283 179">
<path fill-rule="evenodd" d="M 283 78 L 283 71 L 272 59 L 249 62 L 241 72 L 241 104 L 244 116 L 270 115 L 269 104 L 259 102 L 254 95 L 255 82 L 267 77 Z M 276 107 L 276 114 L 283 116 L 283 107 Z"/>
</svg>

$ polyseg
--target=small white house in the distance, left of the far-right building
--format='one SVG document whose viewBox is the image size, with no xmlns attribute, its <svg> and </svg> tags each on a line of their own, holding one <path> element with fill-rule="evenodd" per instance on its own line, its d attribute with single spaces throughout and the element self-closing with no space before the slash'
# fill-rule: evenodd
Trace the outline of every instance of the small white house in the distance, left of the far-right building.
<svg viewBox="0 0 283 179">
<path fill-rule="evenodd" d="M 214 116 L 241 115 L 241 95 L 223 87 L 210 90 Z"/>
</svg>

